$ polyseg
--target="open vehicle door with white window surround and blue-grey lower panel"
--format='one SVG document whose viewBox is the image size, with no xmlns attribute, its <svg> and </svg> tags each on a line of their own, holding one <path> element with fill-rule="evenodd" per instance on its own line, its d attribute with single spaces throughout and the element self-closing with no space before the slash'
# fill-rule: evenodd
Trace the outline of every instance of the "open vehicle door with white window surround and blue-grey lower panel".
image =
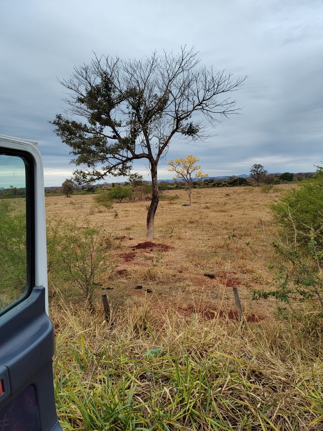
<svg viewBox="0 0 323 431">
<path fill-rule="evenodd" d="M 43 168 L 36 147 L 0 136 L 0 430 L 61 430 L 47 315 Z"/>
</svg>

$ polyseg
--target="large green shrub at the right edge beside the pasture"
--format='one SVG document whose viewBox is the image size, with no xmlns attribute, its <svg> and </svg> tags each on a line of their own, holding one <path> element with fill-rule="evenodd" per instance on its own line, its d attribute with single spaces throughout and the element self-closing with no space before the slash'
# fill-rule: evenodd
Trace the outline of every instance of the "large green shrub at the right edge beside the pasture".
<svg viewBox="0 0 323 431">
<path fill-rule="evenodd" d="M 318 169 L 272 205 L 280 237 L 272 238 L 278 255 L 276 286 L 253 290 L 253 299 L 274 297 L 278 310 L 318 331 L 323 318 L 323 175 Z M 305 309 L 301 306 L 304 305 Z M 309 318 L 310 316 L 310 318 Z M 309 324 L 311 322 L 311 324 Z"/>
</svg>

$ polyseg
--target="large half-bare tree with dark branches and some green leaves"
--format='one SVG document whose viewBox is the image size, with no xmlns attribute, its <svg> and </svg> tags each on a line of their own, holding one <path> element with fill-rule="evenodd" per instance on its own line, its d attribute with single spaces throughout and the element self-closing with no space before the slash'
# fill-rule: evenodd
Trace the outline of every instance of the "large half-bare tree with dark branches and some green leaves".
<svg viewBox="0 0 323 431">
<path fill-rule="evenodd" d="M 149 241 L 159 203 L 157 168 L 171 139 L 200 139 L 206 123 L 219 123 L 239 109 L 230 93 L 245 77 L 233 79 L 226 71 L 199 66 L 197 54 L 184 47 L 177 55 L 155 52 L 141 60 L 95 55 L 89 65 L 75 67 L 72 77 L 61 81 L 69 90 L 69 107 L 66 116 L 57 114 L 51 123 L 72 149 L 79 183 L 127 175 L 134 160 L 149 161 Z"/>
</svg>

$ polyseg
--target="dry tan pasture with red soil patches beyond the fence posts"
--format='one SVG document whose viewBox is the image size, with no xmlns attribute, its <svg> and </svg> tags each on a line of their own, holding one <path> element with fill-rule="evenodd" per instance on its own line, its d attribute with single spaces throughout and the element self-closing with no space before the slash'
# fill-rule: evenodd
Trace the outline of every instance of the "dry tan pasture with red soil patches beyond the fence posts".
<svg viewBox="0 0 323 431">
<path fill-rule="evenodd" d="M 238 285 L 244 308 L 268 316 L 274 306 L 250 302 L 245 286 L 272 285 L 265 259 L 271 259 L 273 252 L 262 226 L 270 224 L 269 204 L 289 187 L 275 186 L 269 193 L 251 187 L 195 189 L 191 207 L 181 206 L 187 201 L 186 191 L 166 192 L 179 195 L 173 202 L 162 200 L 156 216 L 155 242 L 170 246 L 166 252 L 133 250 L 145 241 L 147 202 L 115 203 L 115 217 L 113 211 L 95 206 L 93 195 L 53 196 L 46 198 L 46 210 L 51 220 L 77 219 L 81 225 L 87 218 L 102 224 L 113 239 L 113 267 L 101 280 L 102 287 L 113 288 L 109 292 L 113 305 L 143 297 L 150 289 L 157 306 L 172 306 L 178 294 L 185 293 L 182 300 L 187 304 L 221 303 L 232 309 L 232 285 Z M 255 256 L 246 242 L 265 259 Z M 136 289 L 138 285 L 143 289 Z"/>
</svg>

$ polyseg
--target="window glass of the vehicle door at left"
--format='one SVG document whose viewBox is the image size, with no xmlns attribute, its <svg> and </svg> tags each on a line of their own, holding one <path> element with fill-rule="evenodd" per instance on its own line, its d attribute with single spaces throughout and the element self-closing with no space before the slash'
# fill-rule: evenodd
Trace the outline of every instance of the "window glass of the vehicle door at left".
<svg viewBox="0 0 323 431">
<path fill-rule="evenodd" d="M 0 313 L 28 292 L 26 164 L 0 154 Z"/>
</svg>

